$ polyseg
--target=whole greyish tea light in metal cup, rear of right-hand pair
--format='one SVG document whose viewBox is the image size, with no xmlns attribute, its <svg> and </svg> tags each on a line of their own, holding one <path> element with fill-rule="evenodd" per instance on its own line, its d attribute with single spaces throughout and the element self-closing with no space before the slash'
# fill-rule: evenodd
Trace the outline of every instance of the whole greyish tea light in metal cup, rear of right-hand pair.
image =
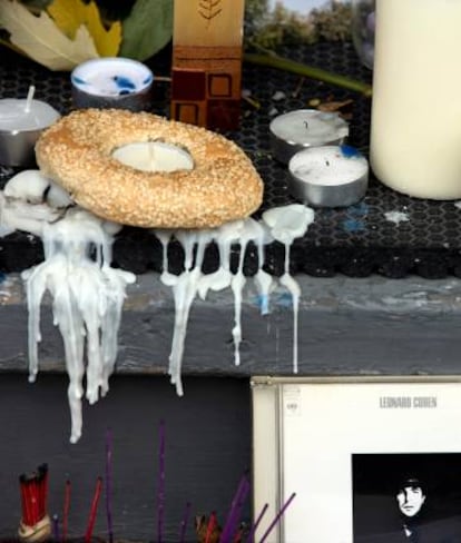
<svg viewBox="0 0 461 543">
<path fill-rule="evenodd" d="M 349 125 L 336 112 L 297 109 L 275 117 L 269 125 L 269 135 L 273 156 L 288 164 L 302 149 L 344 144 Z"/>
</svg>

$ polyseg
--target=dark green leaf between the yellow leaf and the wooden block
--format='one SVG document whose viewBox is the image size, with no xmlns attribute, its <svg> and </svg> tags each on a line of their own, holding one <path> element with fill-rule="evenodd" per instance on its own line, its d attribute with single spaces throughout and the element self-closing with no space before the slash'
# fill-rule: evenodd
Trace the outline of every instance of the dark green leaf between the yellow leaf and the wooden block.
<svg viewBox="0 0 461 543">
<path fill-rule="evenodd" d="M 173 0 L 137 0 L 122 21 L 120 57 L 146 60 L 173 36 Z"/>
</svg>

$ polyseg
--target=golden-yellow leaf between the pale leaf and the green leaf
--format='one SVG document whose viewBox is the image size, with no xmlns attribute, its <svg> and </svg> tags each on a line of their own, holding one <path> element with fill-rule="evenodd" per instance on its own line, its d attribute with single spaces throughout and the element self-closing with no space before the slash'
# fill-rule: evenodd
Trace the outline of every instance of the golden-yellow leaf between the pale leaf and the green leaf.
<svg viewBox="0 0 461 543">
<path fill-rule="evenodd" d="M 57 27 L 71 40 L 78 29 L 85 26 L 101 57 L 116 57 L 121 42 L 121 23 L 115 21 L 109 28 L 102 24 L 99 9 L 94 0 L 53 0 L 47 6 Z"/>
</svg>

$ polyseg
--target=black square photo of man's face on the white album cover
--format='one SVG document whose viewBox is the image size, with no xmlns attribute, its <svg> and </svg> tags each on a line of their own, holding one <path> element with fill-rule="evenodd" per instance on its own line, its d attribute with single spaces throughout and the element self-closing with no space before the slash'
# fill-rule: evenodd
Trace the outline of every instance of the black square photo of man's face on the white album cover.
<svg viewBox="0 0 461 543">
<path fill-rule="evenodd" d="M 461 543 L 461 454 L 354 454 L 354 543 Z"/>
</svg>

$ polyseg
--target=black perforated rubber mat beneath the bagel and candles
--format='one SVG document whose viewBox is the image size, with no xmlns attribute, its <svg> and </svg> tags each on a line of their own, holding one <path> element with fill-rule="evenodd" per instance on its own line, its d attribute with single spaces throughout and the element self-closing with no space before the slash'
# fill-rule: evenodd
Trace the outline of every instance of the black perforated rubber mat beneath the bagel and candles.
<svg viewBox="0 0 461 543">
<path fill-rule="evenodd" d="M 1 50 L 0 98 L 24 97 L 29 85 L 37 87 L 36 97 L 51 103 L 60 112 L 71 108 L 69 73 L 50 72 L 29 60 Z M 351 43 L 317 43 L 288 48 L 281 55 L 350 77 L 371 81 Z M 170 53 L 163 51 L 149 61 L 157 75 L 168 75 Z M 353 99 L 350 144 L 367 154 L 370 99 L 331 85 L 305 79 L 300 89 L 300 76 L 271 68 L 244 65 L 244 82 L 259 108 L 243 102 L 243 118 L 237 132 L 227 134 L 254 161 L 265 182 L 264 209 L 295 201 L 287 192 L 287 170 L 269 152 L 268 124 L 276 112 L 305 108 L 311 99 L 321 101 Z M 274 100 L 284 92 L 285 98 Z M 293 97 L 295 93 L 295 97 Z M 156 83 L 153 110 L 168 115 L 168 85 Z M 3 185 L 14 170 L 0 167 Z M 404 213 L 409 220 L 399 224 L 386 218 L 389 211 Z M 372 178 L 365 198 L 343 209 L 318 209 L 306 236 L 295 241 L 292 272 L 328 277 L 344 274 L 366 277 L 380 274 L 401 278 L 415 274 L 426 278 L 461 276 L 459 231 L 461 209 L 453 201 L 414 199 L 384 187 Z M 180 248 L 171 244 L 173 270 L 182 267 Z M 266 269 L 283 272 L 283 247 L 267 247 Z M 18 272 L 40 261 L 41 243 L 33 236 L 16 233 L 0 238 L 0 269 Z M 137 274 L 160 270 L 160 246 L 146 230 L 125 228 L 115 244 L 115 263 Z M 257 267 L 256 251 L 249 247 L 245 260 L 246 274 Z M 207 251 L 205 270 L 216 266 L 216 251 Z"/>
</svg>

